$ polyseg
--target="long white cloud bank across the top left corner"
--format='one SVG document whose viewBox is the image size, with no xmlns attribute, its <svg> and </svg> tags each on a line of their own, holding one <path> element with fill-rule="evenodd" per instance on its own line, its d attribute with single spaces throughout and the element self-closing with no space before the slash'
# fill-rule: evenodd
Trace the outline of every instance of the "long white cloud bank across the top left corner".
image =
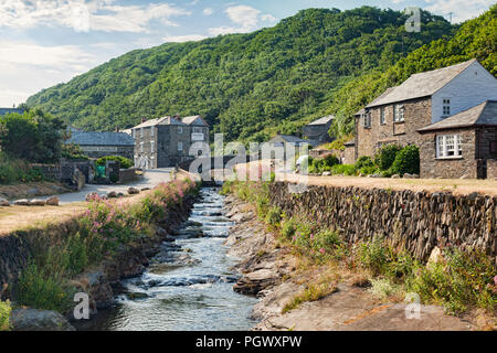
<svg viewBox="0 0 497 353">
<path fill-rule="evenodd" d="M 114 0 L 0 0 L 0 28 L 62 25 L 77 32 L 147 32 L 152 20 L 176 25 L 173 17 L 190 12 L 168 3 L 118 6 Z"/>
</svg>

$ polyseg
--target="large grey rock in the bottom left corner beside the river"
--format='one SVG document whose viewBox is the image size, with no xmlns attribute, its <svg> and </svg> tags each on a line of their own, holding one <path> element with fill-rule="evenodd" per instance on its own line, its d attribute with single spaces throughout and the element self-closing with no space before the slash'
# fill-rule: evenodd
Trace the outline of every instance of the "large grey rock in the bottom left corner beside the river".
<svg viewBox="0 0 497 353">
<path fill-rule="evenodd" d="M 59 312 L 14 309 L 10 317 L 13 331 L 76 331 Z"/>
</svg>

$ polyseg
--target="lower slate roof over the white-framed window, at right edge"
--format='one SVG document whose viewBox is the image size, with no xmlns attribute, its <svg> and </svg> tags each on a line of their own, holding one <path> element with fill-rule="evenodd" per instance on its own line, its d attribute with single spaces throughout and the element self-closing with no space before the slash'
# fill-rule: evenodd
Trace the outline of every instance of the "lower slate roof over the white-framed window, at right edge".
<svg viewBox="0 0 497 353">
<path fill-rule="evenodd" d="M 497 126 L 497 100 L 486 100 L 476 107 L 461 111 L 442 121 L 419 129 L 420 132 L 467 128 L 474 126 Z"/>
</svg>

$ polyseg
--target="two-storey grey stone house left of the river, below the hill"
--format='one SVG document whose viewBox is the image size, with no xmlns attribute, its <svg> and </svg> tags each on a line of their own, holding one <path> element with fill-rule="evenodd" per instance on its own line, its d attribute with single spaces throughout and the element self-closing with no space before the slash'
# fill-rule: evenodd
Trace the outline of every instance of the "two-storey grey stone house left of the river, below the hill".
<svg viewBox="0 0 497 353">
<path fill-rule="evenodd" d="M 192 143 L 209 143 L 209 125 L 201 116 L 163 117 L 142 120 L 131 128 L 131 136 L 135 139 L 135 167 L 169 168 L 192 158 Z"/>
</svg>

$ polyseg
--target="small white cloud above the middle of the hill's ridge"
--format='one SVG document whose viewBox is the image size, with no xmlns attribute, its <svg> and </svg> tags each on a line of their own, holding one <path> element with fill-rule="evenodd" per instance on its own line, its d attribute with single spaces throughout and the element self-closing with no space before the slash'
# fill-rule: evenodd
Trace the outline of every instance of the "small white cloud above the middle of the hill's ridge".
<svg viewBox="0 0 497 353">
<path fill-rule="evenodd" d="M 236 26 L 218 26 L 209 29 L 209 34 L 248 33 L 256 30 L 263 22 L 276 22 L 272 14 L 261 15 L 261 11 L 248 6 L 232 6 L 224 11 Z"/>
</svg>

